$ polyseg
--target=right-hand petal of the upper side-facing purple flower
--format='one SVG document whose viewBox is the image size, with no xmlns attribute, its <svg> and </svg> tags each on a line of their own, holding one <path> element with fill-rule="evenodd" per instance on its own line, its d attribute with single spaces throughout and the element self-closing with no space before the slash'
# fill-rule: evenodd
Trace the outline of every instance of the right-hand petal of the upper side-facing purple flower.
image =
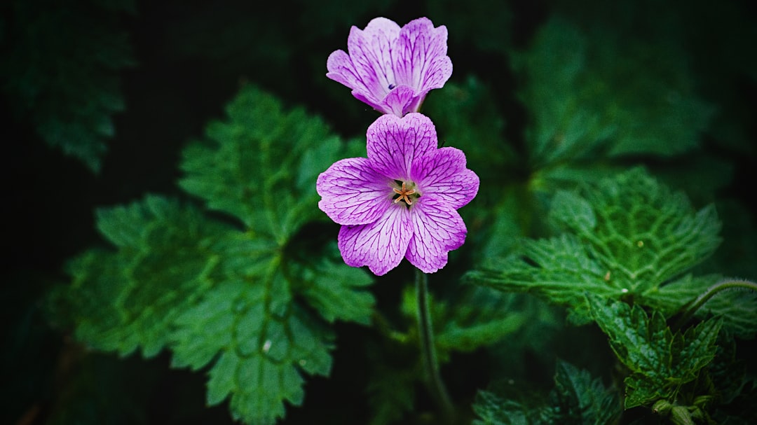
<svg viewBox="0 0 757 425">
<path fill-rule="evenodd" d="M 425 96 L 432 88 L 441 88 L 452 75 L 452 60 L 447 56 L 447 27 L 434 28 L 431 20 L 421 17 L 400 29 L 394 67 L 396 84 L 410 85 L 417 95 Z"/>
</svg>

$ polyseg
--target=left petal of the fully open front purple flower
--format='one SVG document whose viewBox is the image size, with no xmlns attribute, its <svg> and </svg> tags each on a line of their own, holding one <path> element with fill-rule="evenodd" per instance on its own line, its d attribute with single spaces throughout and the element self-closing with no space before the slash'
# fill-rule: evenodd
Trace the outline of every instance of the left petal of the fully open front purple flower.
<svg viewBox="0 0 757 425">
<path fill-rule="evenodd" d="M 381 218 L 391 205 L 390 178 L 373 169 L 367 158 L 332 164 L 316 181 L 319 208 L 340 225 L 363 225 Z"/>
</svg>

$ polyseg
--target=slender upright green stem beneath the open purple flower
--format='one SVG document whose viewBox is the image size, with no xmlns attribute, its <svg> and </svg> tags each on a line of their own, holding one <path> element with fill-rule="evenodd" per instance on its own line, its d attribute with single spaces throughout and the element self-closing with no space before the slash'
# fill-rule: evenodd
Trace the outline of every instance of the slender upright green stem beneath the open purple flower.
<svg viewBox="0 0 757 425">
<path fill-rule="evenodd" d="M 434 398 L 439 411 L 444 415 L 444 423 L 453 423 L 455 408 L 450 402 L 447 387 L 439 374 L 439 361 L 434 345 L 434 330 L 431 328 L 431 311 L 428 302 L 428 277 L 416 268 L 416 299 L 418 300 L 418 332 L 421 342 L 423 366 L 428 391 Z"/>
</svg>

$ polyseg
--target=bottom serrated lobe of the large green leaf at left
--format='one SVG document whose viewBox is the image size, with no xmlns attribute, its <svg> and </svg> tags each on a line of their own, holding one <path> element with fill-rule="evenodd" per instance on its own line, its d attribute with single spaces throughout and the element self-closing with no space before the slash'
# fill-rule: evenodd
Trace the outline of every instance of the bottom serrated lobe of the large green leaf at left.
<svg viewBox="0 0 757 425">
<path fill-rule="evenodd" d="M 230 396 L 232 415 L 245 423 L 276 423 L 285 401 L 301 404 L 302 373 L 326 376 L 331 369 L 331 331 L 289 302 L 276 267 L 267 274 L 229 276 L 177 318 L 174 333 L 173 365 L 198 369 L 217 357 L 207 402 Z"/>
</svg>

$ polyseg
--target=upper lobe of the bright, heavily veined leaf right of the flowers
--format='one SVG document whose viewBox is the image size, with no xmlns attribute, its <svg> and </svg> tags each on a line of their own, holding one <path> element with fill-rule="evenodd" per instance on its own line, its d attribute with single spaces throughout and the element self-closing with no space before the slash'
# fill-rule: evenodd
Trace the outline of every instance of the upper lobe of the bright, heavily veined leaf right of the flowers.
<svg viewBox="0 0 757 425">
<path fill-rule="evenodd" d="M 631 169 L 559 192 L 550 219 L 578 235 L 631 293 L 659 287 L 710 256 L 720 244 L 715 208 L 695 211 L 682 193 L 671 193 L 643 169 Z"/>
</svg>

